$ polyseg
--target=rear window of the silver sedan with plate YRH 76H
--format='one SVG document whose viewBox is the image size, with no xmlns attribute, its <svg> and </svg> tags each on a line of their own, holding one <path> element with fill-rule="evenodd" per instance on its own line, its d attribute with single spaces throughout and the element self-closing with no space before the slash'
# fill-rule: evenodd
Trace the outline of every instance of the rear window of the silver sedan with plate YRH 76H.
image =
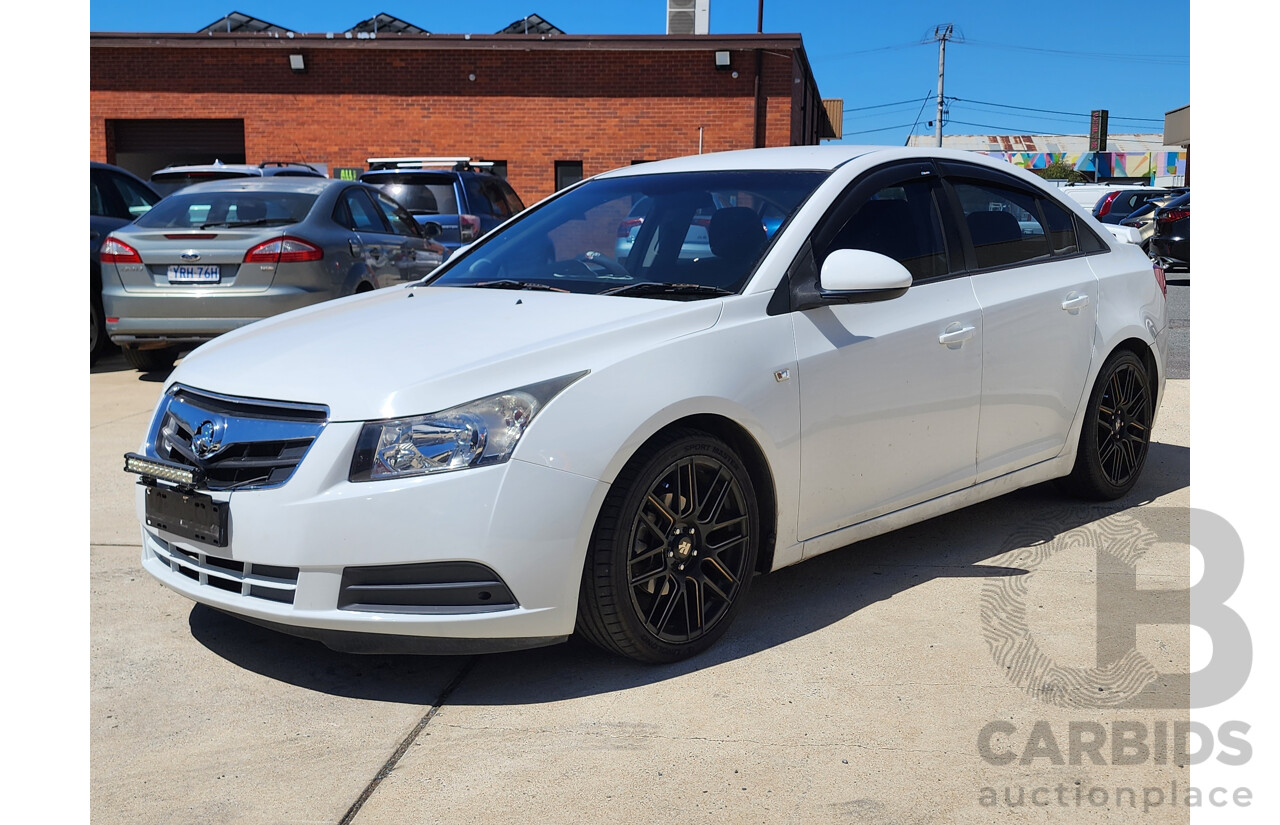
<svg viewBox="0 0 1280 825">
<path fill-rule="evenodd" d="M 275 226 L 307 216 L 316 194 L 302 192 L 178 192 L 137 220 L 152 229 Z"/>
</svg>

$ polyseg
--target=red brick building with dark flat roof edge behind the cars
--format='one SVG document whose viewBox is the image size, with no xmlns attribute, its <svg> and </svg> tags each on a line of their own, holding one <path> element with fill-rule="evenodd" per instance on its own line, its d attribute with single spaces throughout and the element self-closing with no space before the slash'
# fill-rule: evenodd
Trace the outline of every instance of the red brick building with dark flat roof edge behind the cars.
<svg viewBox="0 0 1280 825">
<path fill-rule="evenodd" d="M 463 155 L 532 203 L 636 161 L 824 137 L 800 35 L 90 35 L 90 157 L 143 177 Z"/>
</svg>

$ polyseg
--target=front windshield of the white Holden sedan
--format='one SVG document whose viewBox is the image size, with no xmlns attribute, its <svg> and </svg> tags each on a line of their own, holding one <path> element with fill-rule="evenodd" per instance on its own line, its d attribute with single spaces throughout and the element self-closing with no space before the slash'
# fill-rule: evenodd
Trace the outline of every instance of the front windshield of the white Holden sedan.
<svg viewBox="0 0 1280 825">
<path fill-rule="evenodd" d="M 828 174 L 699 171 L 590 180 L 471 247 L 431 285 L 657 298 L 737 292 Z"/>
</svg>

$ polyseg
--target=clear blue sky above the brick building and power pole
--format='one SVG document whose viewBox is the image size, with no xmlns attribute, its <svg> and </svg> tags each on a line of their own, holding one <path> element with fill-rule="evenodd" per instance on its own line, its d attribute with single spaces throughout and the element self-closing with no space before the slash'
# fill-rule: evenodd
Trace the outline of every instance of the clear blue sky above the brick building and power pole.
<svg viewBox="0 0 1280 825">
<path fill-rule="evenodd" d="M 90 31 L 195 32 L 242 12 L 298 32 L 340 32 L 380 12 L 436 33 L 493 33 L 539 14 L 571 35 L 660 35 L 666 0 L 415 4 L 232 0 L 211 6 L 95 3 Z M 754 32 L 756 0 L 710 0 L 710 32 Z M 845 141 L 902 145 L 932 134 L 938 47 L 946 50 L 943 134 L 1084 134 L 1092 109 L 1111 134 L 1160 133 L 1190 102 L 1190 4 L 841 3 L 765 0 L 765 32 L 799 32 L 823 97 L 845 101 Z M 644 82 L 644 78 L 637 78 Z M 928 101 L 925 102 L 925 100 Z"/>
</svg>

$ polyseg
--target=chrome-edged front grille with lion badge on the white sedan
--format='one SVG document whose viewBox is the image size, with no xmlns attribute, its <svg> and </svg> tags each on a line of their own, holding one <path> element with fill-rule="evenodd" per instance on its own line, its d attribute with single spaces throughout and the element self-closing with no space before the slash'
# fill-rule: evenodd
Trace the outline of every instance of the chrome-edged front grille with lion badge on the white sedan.
<svg viewBox="0 0 1280 825">
<path fill-rule="evenodd" d="M 197 467 L 210 490 L 276 487 L 293 476 L 329 409 L 175 385 L 156 413 L 154 457 Z"/>
</svg>

